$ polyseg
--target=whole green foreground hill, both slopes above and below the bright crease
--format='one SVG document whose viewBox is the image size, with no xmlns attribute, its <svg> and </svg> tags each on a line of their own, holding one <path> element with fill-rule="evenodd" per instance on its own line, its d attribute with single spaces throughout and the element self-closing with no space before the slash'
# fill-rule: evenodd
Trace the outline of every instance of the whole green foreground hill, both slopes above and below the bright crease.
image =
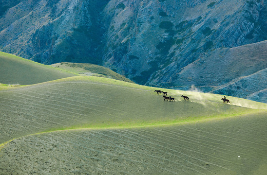
<svg viewBox="0 0 267 175">
<path fill-rule="evenodd" d="M 227 96 L 227 105 L 222 95 L 162 89 L 176 100 L 164 102 L 155 89 L 76 76 L 1 90 L 0 172 L 236 175 L 265 170 L 267 104 Z"/>
</svg>

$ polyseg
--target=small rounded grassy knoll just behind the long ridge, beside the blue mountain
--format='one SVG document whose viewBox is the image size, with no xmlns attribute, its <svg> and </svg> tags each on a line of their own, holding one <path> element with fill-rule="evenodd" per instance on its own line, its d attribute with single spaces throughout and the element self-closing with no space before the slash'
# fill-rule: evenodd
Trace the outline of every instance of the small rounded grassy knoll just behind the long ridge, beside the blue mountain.
<svg viewBox="0 0 267 175">
<path fill-rule="evenodd" d="M 80 75 L 100 76 L 105 78 L 113 78 L 115 80 L 121 80 L 125 82 L 134 83 L 123 75 L 120 75 L 113 70 L 89 63 L 56 63 L 50 65 L 54 68 L 60 68 L 63 70 L 75 72 Z"/>
</svg>

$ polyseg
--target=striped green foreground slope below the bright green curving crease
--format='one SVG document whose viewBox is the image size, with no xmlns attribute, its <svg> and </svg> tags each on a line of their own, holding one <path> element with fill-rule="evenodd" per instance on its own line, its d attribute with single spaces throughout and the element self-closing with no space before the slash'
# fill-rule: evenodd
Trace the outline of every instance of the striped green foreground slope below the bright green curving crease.
<svg viewBox="0 0 267 175">
<path fill-rule="evenodd" d="M 16 170 L 18 174 L 252 174 L 250 170 L 267 164 L 264 114 L 161 127 L 32 134 L 2 148 L 0 167 L 3 172 Z M 243 132 L 247 127 L 255 136 L 249 140 Z M 200 133 L 195 133 L 196 129 Z M 239 131 L 238 135 L 229 133 L 232 129 Z"/>
</svg>

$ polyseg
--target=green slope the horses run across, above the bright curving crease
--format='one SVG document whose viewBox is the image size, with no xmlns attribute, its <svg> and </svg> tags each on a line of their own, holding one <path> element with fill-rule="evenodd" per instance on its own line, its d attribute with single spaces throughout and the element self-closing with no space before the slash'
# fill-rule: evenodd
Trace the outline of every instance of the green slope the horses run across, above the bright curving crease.
<svg viewBox="0 0 267 175">
<path fill-rule="evenodd" d="M 0 143 L 27 134 L 72 128 L 155 126 L 266 111 L 267 104 L 221 95 L 155 88 L 114 79 L 76 76 L 0 91 Z M 181 95 L 190 97 L 184 101 Z M 251 109 L 242 106 L 259 108 Z"/>
</svg>

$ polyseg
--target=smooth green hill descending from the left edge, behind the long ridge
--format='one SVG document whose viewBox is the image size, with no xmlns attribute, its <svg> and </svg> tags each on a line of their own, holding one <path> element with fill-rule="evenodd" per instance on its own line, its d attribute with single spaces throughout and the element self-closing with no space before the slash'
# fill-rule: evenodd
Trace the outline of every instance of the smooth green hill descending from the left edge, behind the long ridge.
<svg viewBox="0 0 267 175">
<path fill-rule="evenodd" d="M 0 83 L 2 84 L 30 85 L 70 76 L 77 76 L 77 74 L 0 52 Z"/>
</svg>

